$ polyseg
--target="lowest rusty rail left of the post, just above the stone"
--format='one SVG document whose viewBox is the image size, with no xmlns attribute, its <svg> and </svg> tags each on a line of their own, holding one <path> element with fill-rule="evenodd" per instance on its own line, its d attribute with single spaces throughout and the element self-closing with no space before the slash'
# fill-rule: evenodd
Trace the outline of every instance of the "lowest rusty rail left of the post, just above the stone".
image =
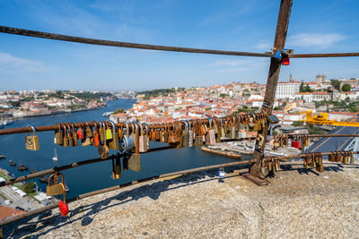
<svg viewBox="0 0 359 239">
<path fill-rule="evenodd" d="M 215 169 L 215 168 L 225 167 L 225 166 L 239 166 L 239 165 L 250 164 L 252 162 L 253 162 L 253 160 L 247 160 L 247 161 L 238 161 L 238 162 L 232 162 L 232 163 L 227 163 L 227 164 L 220 164 L 220 165 L 215 165 L 215 166 L 201 166 L 201 167 L 188 169 L 188 170 L 183 170 L 183 171 L 178 171 L 178 172 L 169 173 L 169 174 L 150 176 L 150 177 L 147 177 L 147 178 L 144 178 L 144 179 L 139 179 L 139 180 L 136 180 L 136 181 L 129 182 L 127 184 L 119 184 L 119 185 L 116 185 L 116 186 L 113 186 L 113 187 L 109 187 L 109 188 L 105 188 L 105 189 L 101 189 L 101 190 L 97 190 L 97 191 L 93 191 L 93 192 L 86 192 L 86 193 L 83 193 L 81 195 L 75 196 L 74 198 L 72 198 L 70 200 L 67 200 L 66 202 L 70 203 L 70 202 L 73 202 L 73 201 L 78 201 L 78 200 L 88 198 L 88 197 L 91 197 L 91 196 L 94 196 L 94 195 L 98 195 L 98 194 L 101 194 L 101 193 L 104 193 L 104 192 L 111 192 L 111 191 L 114 191 L 114 190 L 117 190 L 117 189 L 120 189 L 120 188 L 128 187 L 128 186 L 135 185 L 135 184 L 140 184 L 140 183 L 144 183 L 144 182 L 150 182 L 150 181 L 153 181 L 153 180 L 156 180 L 156 179 L 165 178 L 165 177 L 169 177 L 169 176 L 187 175 L 187 174 L 195 173 L 195 172 L 198 172 L 198 171 Z M 51 205 L 48 205 L 46 207 L 42 207 L 42 208 L 39 208 L 39 209 L 30 210 L 30 211 L 27 211 L 27 212 L 25 212 L 23 214 L 20 214 L 20 215 L 14 216 L 12 218 L 7 218 L 7 219 L 4 219 L 4 220 L 0 221 L 0 226 L 4 226 L 6 224 L 9 224 L 9 223 L 12 223 L 14 221 L 20 220 L 22 218 L 27 218 L 27 217 L 36 215 L 36 214 L 38 214 L 40 212 L 44 212 L 44 211 L 47 211 L 49 209 L 55 209 L 55 208 L 57 208 L 57 203 L 54 203 L 54 204 L 51 204 Z"/>
</svg>

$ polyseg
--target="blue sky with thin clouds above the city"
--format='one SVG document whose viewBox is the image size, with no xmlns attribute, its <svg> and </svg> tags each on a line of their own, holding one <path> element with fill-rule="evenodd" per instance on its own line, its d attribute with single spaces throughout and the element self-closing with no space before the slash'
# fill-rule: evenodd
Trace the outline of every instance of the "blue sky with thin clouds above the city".
<svg viewBox="0 0 359 239">
<path fill-rule="evenodd" d="M 86 38 L 251 52 L 273 46 L 280 0 L 4 1 L 0 25 Z M 359 51 L 359 1 L 294 0 L 286 47 Z M 359 57 L 292 59 L 313 81 L 359 77 Z M 269 58 L 99 47 L 0 33 L 0 90 L 148 90 L 267 81 Z"/>
</svg>

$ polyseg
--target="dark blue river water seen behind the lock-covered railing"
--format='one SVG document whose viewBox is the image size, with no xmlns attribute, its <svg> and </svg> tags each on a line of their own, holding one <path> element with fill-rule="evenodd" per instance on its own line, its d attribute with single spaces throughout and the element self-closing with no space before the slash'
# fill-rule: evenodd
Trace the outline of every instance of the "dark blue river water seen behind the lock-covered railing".
<svg viewBox="0 0 359 239">
<path fill-rule="evenodd" d="M 66 114 L 55 115 L 51 118 L 50 115 L 29 117 L 16 121 L 14 124 L 7 126 L 7 128 L 23 127 L 28 124 L 34 126 L 52 125 L 65 122 L 82 122 L 82 121 L 101 121 L 107 120 L 102 116 L 104 112 L 113 111 L 117 108 L 123 107 L 125 109 L 132 107 L 134 99 L 118 99 L 109 101 L 108 107 L 96 110 L 82 111 Z M 38 172 L 54 166 L 64 166 L 70 163 L 99 158 L 97 148 L 92 146 L 82 147 L 81 143 L 77 147 L 63 148 L 54 143 L 54 132 L 38 132 L 39 147 L 37 151 L 25 149 L 25 133 L 0 135 L 0 154 L 6 156 L 5 159 L 0 159 L 0 167 L 13 173 L 13 175 L 27 175 L 29 171 L 18 171 L 16 166 L 9 165 L 9 159 L 13 159 L 16 164 L 23 164 L 36 169 Z M 162 146 L 162 143 L 154 142 L 155 147 Z M 163 144 L 165 146 L 165 144 Z M 151 144 L 153 147 L 153 143 Z M 53 161 L 54 151 L 57 149 L 57 161 Z M 115 150 L 109 150 L 110 154 L 116 153 Z M 141 155 L 140 172 L 128 170 L 122 172 L 119 179 L 112 179 L 112 163 L 111 160 L 95 163 L 92 165 L 79 166 L 66 171 L 62 174 L 65 176 L 66 184 L 70 188 L 70 192 L 66 194 L 66 198 L 72 198 L 75 195 L 84 192 L 92 192 L 109 186 L 117 184 L 125 184 L 133 180 L 141 179 L 148 176 L 170 173 L 179 170 L 185 170 L 198 166 L 210 166 L 221 163 L 232 162 L 233 159 L 208 154 L 202 152 L 200 148 L 183 148 L 170 149 L 153 153 Z M 29 180 L 36 182 L 39 190 L 46 192 L 46 184 L 39 183 L 39 179 Z"/>
</svg>

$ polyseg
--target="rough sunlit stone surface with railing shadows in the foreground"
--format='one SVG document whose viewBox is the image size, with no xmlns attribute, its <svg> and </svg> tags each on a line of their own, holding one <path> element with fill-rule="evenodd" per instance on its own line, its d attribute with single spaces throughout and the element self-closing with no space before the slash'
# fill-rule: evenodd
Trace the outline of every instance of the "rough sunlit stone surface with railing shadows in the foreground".
<svg viewBox="0 0 359 239">
<path fill-rule="evenodd" d="M 139 184 L 4 226 L 4 238 L 348 238 L 359 235 L 359 165 L 281 165 L 258 187 L 227 168 Z"/>
</svg>

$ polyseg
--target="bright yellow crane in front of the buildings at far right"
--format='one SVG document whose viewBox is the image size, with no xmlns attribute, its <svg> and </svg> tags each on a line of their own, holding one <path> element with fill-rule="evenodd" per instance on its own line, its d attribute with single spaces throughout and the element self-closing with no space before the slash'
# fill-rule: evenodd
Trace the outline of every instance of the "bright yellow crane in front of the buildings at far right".
<svg viewBox="0 0 359 239">
<path fill-rule="evenodd" d="M 301 111 L 300 114 L 306 114 L 306 119 L 299 121 L 305 122 L 307 124 L 326 124 L 326 125 L 335 125 L 335 126 L 351 126 L 359 127 L 359 122 L 356 121 L 354 116 L 351 121 L 337 121 L 337 120 L 328 120 L 328 113 L 320 113 L 319 115 L 313 115 L 313 112 L 310 111 Z"/>
</svg>

